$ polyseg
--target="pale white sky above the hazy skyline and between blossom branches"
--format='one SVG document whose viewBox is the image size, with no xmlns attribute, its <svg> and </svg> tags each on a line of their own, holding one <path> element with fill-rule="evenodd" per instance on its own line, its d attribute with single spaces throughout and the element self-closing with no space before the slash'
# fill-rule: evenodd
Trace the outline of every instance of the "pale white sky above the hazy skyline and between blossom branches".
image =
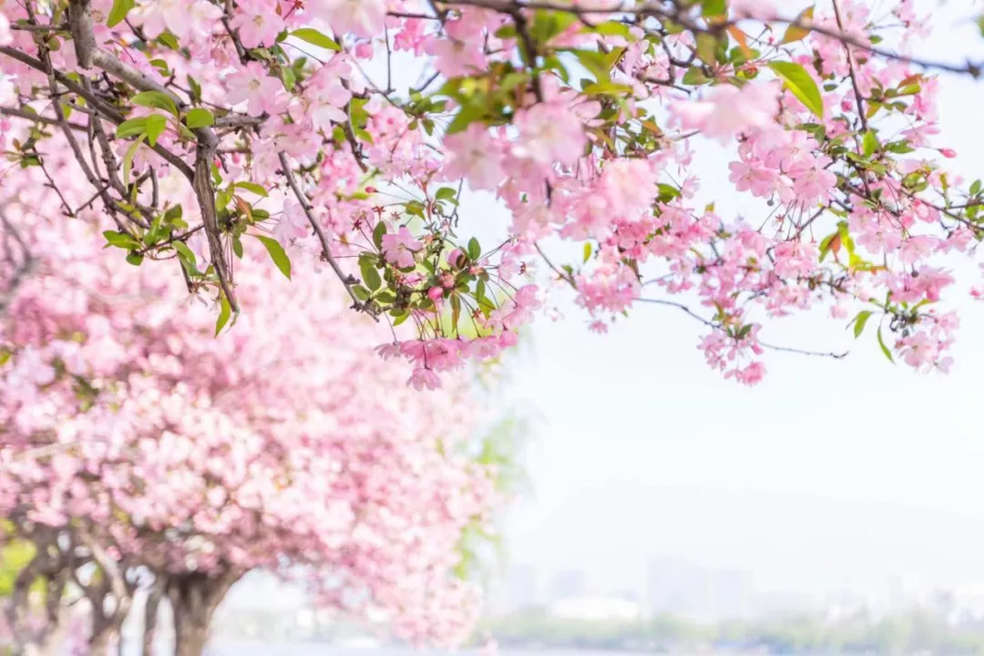
<svg viewBox="0 0 984 656">
<path fill-rule="evenodd" d="M 946 3 L 918 52 L 980 55 L 980 34 L 960 20 L 970 8 Z M 943 86 L 944 138 L 959 155 L 949 163 L 973 180 L 984 83 Z M 761 215 L 731 191 L 726 154 L 698 152 L 707 201 Z M 709 370 L 705 328 L 673 308 L 638 305 L 596 335 L 560 297 L 564 318 L 538 318 L 511 366 L 510 398 L 533 423 L 531 491 L 506 523 L 510 563 L 584 569 L 597 591 L 638 587 L 649 557 L 745 569 L 766 591 L 984 582 L 980 304 L 949 299 L 962 321 L 949 376 L 892 366 L 873 330 L 855 341 L 818 310 L 763 336 L 850 355 L 769 352 L 766 381 L 744 388 Z"/>
</svg>

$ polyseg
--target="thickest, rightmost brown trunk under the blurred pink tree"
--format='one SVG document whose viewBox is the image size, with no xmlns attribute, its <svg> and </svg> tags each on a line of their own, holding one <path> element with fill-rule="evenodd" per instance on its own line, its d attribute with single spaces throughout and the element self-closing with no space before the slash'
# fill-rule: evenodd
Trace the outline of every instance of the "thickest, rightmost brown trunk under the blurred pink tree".
<svg viewBox="0 0 984 656">
<path fill-rule="evenodd" d="M 215 609 L 241 573 L 193 572 L 167 578 L 167 599 L 174 613 L 174 656 L 202 656 Z"/>
</svg>

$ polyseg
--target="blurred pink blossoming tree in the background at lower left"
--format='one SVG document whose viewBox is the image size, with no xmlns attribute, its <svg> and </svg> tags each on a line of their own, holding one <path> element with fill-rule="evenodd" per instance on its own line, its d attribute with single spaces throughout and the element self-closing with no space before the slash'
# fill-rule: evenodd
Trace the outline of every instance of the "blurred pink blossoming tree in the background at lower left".
<svg viewBox="0 0 984 656">
<path fill-rule="evenodd" d="M 407 639 L 466 636 L 461 541 L 492 531 L 502 498 L 468 385 L 408 388 L 372 356 L 387 328 L 312 268 L 270 267 L 261 234 L 235 268 L 249 310 L 216 338 L 183 276 L 102 248 L 101 209 L 56 210 L 89 194 L 70 149 L 37 156 L 0 192 L 11 262 L 31 268 L 0 320 L 0 517 L 36 547 L 16 601 L 49 581 L 43 635 L 73 586 L 103 653 L 146 587 L 152 611 L 172 607 L 177 654 L 200 654 L 225 593 L 264 568 Z"/>
</svg>

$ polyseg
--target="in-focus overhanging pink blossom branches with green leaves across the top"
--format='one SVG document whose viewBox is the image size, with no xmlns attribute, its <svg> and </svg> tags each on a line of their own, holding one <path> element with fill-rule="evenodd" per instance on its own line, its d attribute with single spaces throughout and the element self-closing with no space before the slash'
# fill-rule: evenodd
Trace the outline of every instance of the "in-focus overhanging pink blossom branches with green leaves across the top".
<svg viewBox="0 0 984 656">
<path fill-rule="evenodd" d="M 183 278 L 223 325 L 269 296 L 240 291 L 244 239 L 295 284 L 324 267 L 354 312 L 406 324 L 380 353 L 415 388 L 515 342 L 537 260 L 595 330 L 641 302 L 687 312 L 743 383 L 775 348 L 766 320 L 818 305 L 946 370 L 946 263 L 975 253 L 982 188 L 946 168 L 936 75 L 980 67 L 913 58 L 929 25 L 911 0 L 12 2 L 4 184 L 85 188 L 51 211 L 106 213 L 93 239 Z M 731 147 L 761 216 L 697 206 L 701 139 Z M 465 232 L 465 184 L 509 210 L 495 244 Z M 5 225 L 0 307 L 37 257 Z M 558 240 L 584 257 L 549 257 Z"/>
</svg>

